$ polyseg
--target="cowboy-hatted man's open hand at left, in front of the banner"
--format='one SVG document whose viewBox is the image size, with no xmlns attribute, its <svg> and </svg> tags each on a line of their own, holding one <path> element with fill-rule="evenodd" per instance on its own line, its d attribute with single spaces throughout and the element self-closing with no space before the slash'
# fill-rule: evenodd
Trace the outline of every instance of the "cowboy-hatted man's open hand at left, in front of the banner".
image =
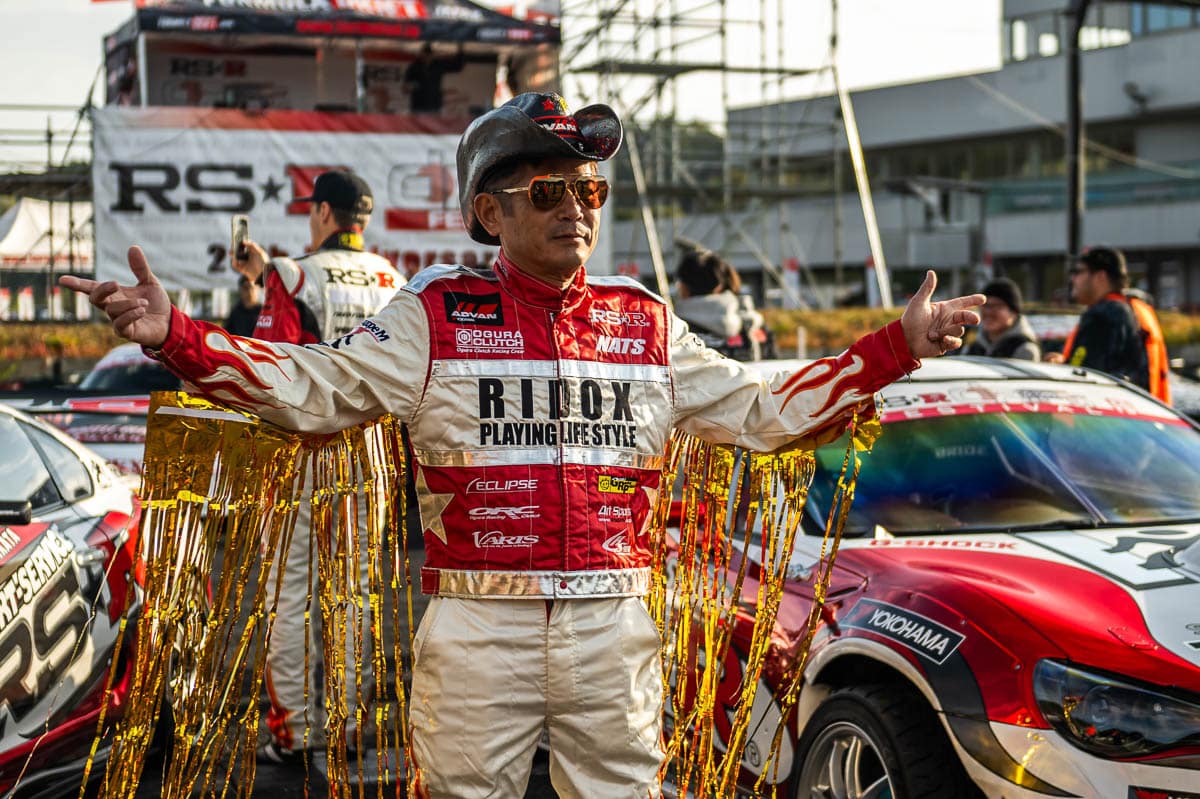
<svg viewBox="0 0 1200 799">
<path fill-rule="evenodd" d="M 108 314 L 121 338 L 157 349 L 170 329 L 170 299 L 150 271 L 142 247 L 130 247 L 130 271 L 137 286 L 120 286 L 116 281 L 98 283 L 73 275 L 64 275 L 59 284 L 86 294 L 94 306 Z"/>
</svg>

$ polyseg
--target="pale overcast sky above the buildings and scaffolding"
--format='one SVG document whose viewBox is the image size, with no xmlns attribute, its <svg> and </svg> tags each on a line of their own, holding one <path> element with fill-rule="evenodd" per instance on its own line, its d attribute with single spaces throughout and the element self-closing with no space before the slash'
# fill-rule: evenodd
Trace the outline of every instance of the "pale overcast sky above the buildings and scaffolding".
<svg viewBox="0 0 1200 799">
<path fill-rule="evenodd" d="M 774 13 L 778 0 L 768 2 Z M 750 0 L 734 0 L 731 7 Z M 101 65 L 102 40 L 132 13 L 131 0 L 0 0 L 0 104 L 55 103 L 78 107 Z M 828 62 L 829 2 L 784 0 L 786 8 L 785 66 L 817 67 Z M 904 83 L 924 77 L 995 68 L 1000 62 L 1000 0 L 840 0 L 841 72 L 851 88 Z M 566 20 L 570 25 L 570 20 Z M 773 36 L 773 32 L 768 32 Z M 748 41 L 748 40 L 746 40 Z M 770 58 L 778 52 L 768 42 Z M 731 60 L 761 59 L 757 41 L 734 46 Z M 752 50 L 752 52 L 751 52 Z M 103 79 L 97 102 L 103 102 Z M 710 78 L 709 78 L 710 82 Z M 757 98 L 761 79 L 736 89 L 733 104 Z M 566 91 L 572 89 L 566 84 Z M 811 82 L 793 80 L 788 95 L 821 90 Z M 706 115 L 710 109 L 712 84 L 682 86 L 683 115 Z M 568 100 L 572 100 L 568 97 Z M 0 112 L 0 127 L 44 130 L 44 112 Z M 54 114 L 54 127 L 70 130 L 71 113 Z M 2 137 L 12 138 L 5 133 Z M 0 160 L 44 157 L 44 148 L 0 144 Z M 0 170 L 11 168 L 0 163 Z"/>
</svg>

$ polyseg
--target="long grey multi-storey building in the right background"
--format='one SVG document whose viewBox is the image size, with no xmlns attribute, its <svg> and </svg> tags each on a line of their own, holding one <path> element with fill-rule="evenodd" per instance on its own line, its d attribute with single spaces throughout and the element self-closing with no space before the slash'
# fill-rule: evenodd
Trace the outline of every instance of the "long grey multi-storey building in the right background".
<svg viewBox="0 0 1200 799">
<path fill-rule="evenodd" d="M 898 302 L 926 266 L 956 290 L 996 272 L 1064 300 L 1067 5 L 1007 0 L 996 71 L 854 92 Z M 1096 0 L 1080 41 L 1082 241 L 1123 248 L 1162 307 L 1200 306 L 1200 11 Z M 763 272 L 781 266 L 809 304 L 862 301 L 870 250 L 836 96 L 738 108 L 727 131 L 739 186 L 773 192 L 733 192 L 661 236 L 722 252 L 768 299 Z M 648 263 L 636 224 L 618 226 L 618 262 Z"/>
</svg>

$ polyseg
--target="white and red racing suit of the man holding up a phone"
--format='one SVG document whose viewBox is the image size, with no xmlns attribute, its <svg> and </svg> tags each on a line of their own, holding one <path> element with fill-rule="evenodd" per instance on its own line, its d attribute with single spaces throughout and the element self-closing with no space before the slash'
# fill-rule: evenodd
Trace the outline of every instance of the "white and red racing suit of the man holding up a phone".
<svg viewBox="0 0 1200 799">
<path fill-rule="evenodd" d="M 388 259 L 361 251 L 361 234 L 356 229 L 338 230 L 322 246 L 302 258 L 272 258 L 263 274 L 266 296 L 258 318 L 254 337 L 272 342 L 313 343 L 343 336 L 362 319 L 371 316 L 395 295 L 404 278 Z M 271 707 L 266 726 L 283 749 L 296 750 L 320 746 L 325 741 L 322 681 L 318 678 L 320 657 L 319 608 L 316 603 L 316 548 L 311 542 L 312 506 L 311 474 L 305 477 L 305 492 L 296 509 L 296 523 L 283 569 L 275 624 L 266 650 L 266 693 Z M 366 506 L 359 497 L 358 570 L 347 575 L 349 584 L 358 584 L 366 600 L 367 546 Z M 312 567 L 310 569 L 310 559 Z M 271 584 L 277 578 L 280 560 L 272 561 Z M 311 582 L 310 582 L 311 581 Z M 352 609 L 354 606 L 350 606 Z M 306 615 L 312 623 L 306 625 Z M 349 618 L 347 630 L 359 627 L 359 619 Z M 305 627 L 308 626 L 308 660 L 305 660 Z M 364 645 L 370 643 L 364 638 Z M 354 636 L 346 637 L 346 683 L 349 699 L 354 702 Z M 307 662 L 308 668 L 302 663 Z M 362 692 L 370 692 L 371 657 L 364 651 Z M 298 665 L 300 667 L 298 667 Z M 355 740 L 355 714 L 348 715 L 347 737 Z"/>
</svg>

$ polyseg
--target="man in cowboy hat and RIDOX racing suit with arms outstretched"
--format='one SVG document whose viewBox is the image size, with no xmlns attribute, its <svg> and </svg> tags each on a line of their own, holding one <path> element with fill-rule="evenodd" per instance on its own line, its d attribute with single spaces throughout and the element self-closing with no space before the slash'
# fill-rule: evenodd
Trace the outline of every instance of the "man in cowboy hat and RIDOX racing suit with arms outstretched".
<svg viewBox="0 0 1200 799">
<path fill-rule="evenodd" d="M 460 202 L 496 264 L 428 268 L 325 346 L 250 358 L 172 308 L 136 247 L 137 286 L 62 278 L 221 402 L 306 431 L 408 423 L 433 596 L 413 650 L 421 795 L 523 795 L 542 729 L 560 797 L 655 794 L 660 641 L 642 596 L 672 429 L 756 450 L 838 435 L 978 322 L 983 296 L 931 302 L 929 272 L 900 320 L 760 378 L 636 282 L 586 275 L 607 188 L 594 162 L 620 138 L 611 108 L 572 115 L 557 95 L 476 119 Z"/>
</svg>

